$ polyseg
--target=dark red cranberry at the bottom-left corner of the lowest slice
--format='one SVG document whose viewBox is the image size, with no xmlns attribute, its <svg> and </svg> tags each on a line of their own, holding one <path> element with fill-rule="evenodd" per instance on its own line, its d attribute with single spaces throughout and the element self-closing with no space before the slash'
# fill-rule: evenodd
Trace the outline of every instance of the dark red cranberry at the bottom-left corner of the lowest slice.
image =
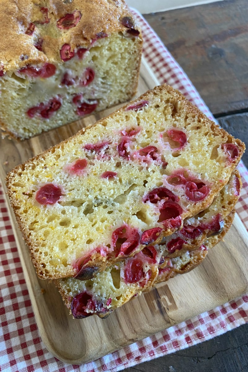
<svg viewBox="0 0 248 372">
<path fill-rule="evenodd" d="M 73 297 L 71 302 L 71 313 L 74 318 L 81 319 L 86 318 L 91 313 L 86 312 L 86 308 L 94 308 L 94 301 L 92 300 L 92 295 L 88 292 L 82 292 Z"/>
</svg>

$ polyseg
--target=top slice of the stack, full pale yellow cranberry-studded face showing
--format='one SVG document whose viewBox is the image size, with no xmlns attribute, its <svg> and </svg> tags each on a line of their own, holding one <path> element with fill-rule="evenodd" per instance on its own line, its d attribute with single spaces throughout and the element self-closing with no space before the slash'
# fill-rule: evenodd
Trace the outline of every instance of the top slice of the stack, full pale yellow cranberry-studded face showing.
<svg viewBox="0 0 248 372">
<path fill-rule="evenodd" d="M 38 276 L 101 271 L 160 243 L 212 203 L 243 151 L 163 85 L 17 166 L 8 193 Z"/>
</svg>

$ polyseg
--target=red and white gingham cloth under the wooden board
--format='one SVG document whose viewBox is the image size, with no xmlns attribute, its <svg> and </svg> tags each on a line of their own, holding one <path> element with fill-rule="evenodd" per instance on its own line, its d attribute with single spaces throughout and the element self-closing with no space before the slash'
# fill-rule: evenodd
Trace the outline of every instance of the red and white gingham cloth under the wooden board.
<svg viewBox="0 0 248 372">
<path fill-rule="evenodd" d="M 142 26 L 145 60 L 160 83 L 167 82 L 180 90 L 213 119 L 189 78 L 158 36 L 141 15 L 133 12 Z M 243 189 L 236 210 L 248 230 L 248 171 L 242 163 L 238 169 Z M 247 294 L 94 362 L 68 365 L 52 356 L 39 336 L 1 185 L 0 258 L 0 371 L 114 372 L 195 345 L 248 322 Z"/>
</svg>

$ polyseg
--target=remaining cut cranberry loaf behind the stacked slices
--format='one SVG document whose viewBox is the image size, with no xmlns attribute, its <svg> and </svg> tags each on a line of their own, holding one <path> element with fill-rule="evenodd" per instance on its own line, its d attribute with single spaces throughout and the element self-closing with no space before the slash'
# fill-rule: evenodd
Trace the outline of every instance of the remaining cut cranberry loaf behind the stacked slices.
<svg viewBox="0 0 248 372">
<path fill-rule="evenodd" d="M 142 36 L 124 0 L 0 4 L 5 134 L 29 138 L 136 92 Z"/>
</svg>

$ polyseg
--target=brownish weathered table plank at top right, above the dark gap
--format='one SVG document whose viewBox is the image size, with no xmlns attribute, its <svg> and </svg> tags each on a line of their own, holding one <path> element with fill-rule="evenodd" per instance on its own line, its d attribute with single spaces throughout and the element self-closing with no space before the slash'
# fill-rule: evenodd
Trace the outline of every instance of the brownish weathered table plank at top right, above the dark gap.
<svg viewBox="0 0 248 372">
<path fill-rule="evenodd" d="M 248 108 L 247 0 L 145 15 L 214 115 Z"/>
</svg>

